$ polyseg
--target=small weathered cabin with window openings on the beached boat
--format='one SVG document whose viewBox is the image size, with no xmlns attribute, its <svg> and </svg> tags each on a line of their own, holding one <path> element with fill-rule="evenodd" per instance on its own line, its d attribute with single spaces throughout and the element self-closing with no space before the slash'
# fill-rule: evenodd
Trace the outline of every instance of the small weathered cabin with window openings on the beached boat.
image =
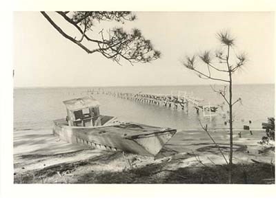
<svg viewBox="0 0 276 200">
<path fill-rule="evenodd" d="M 69 126 L 101 126 L 100 104 L 94 98 L 86 96 L 63 103 L 66 105 Z"/>
</svg>

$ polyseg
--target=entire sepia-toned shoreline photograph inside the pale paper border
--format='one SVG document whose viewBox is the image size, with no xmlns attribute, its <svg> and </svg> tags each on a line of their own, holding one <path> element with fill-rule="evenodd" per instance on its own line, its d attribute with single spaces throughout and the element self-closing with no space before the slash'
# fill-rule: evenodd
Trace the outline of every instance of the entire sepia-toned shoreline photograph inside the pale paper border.
<svg viewBox="0 0 276 200">
<path fill-rule="evenodd" d="M 275 185 L 273 11 L 90 8 L 12 12 L 12 184 Z"/>
</svg>

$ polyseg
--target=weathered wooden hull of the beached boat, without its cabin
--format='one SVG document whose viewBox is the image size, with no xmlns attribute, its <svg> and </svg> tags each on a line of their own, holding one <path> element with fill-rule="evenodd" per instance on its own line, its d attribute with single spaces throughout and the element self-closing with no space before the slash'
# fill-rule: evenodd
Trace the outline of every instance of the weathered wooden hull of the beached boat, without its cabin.
<svg viewBox="0 0 276 200">
<path fill-rule="evenodd" d="M 115 123 L 106 126 L 68 126 L 65 120 L 54 121 L 54 134 L 72 144 L 84 144 L 110 151 L 126 151 L 155 156 L 176 129 L 164 129 L 137 123 Z"/>
</svg>

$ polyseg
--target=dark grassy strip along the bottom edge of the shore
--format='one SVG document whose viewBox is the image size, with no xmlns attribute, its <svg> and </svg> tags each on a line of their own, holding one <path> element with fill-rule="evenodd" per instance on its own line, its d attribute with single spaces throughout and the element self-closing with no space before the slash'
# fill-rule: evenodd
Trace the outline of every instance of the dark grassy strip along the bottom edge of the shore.
<svg viewBox="0 0 276 200">
<path fill-rule="evenodd" d="M 14 175 L 15 184 L 227 184 L 226 165 L 189 166 L 169 170 L 166 164 L 150 164 L 117 172 L 90 170 L 92 162 L 59 165 Z M 57 173 L 58 172 L 58 173 Z M 275 184 L 275 166 L 235 164 L 234 184 Z"/>
</svg>

